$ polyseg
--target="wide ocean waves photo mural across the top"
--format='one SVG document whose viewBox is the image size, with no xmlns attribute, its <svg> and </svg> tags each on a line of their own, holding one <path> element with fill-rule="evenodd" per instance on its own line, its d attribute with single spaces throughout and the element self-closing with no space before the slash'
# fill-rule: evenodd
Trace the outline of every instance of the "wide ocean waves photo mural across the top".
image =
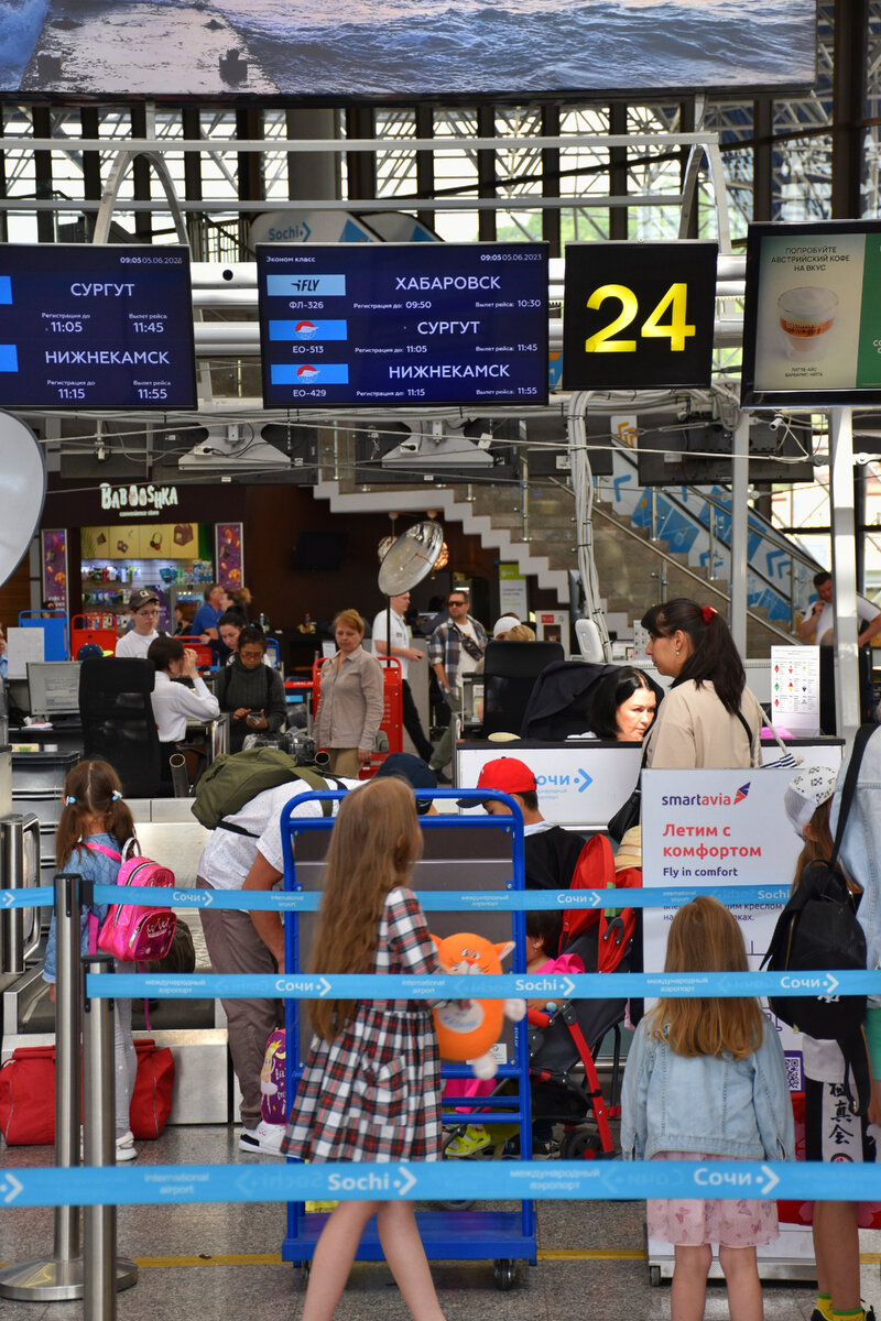
<svg viewBox="0 0 881 1321">
<path fill-rule="evenodd" d="M 815 0 L 3 0 L 0 95 L 351 100 L 804 87 Z"/>
</svg>

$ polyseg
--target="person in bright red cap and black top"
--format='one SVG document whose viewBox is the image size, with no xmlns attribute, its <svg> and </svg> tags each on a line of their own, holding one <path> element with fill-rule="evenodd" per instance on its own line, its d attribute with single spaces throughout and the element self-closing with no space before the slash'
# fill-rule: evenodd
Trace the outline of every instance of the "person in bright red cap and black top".
<svg viewBox="0 0 881 1321">
<path fill-rule="evenodd" d="M 523 864 L 527 890 L 568 890 L 584 847 L 580 835 L 552 826 L 539 811 L 535 775 L 516 757 L 487 761 L 477 781 L 478 789 L 498 789 L 510 794 L 523 814 Z M 460 807 L 474 807 L 477 799 L 461 798 Z M 509 816 L 510 807 L 498 798 L 483 801 L 490 816 Z"/>
</svg>

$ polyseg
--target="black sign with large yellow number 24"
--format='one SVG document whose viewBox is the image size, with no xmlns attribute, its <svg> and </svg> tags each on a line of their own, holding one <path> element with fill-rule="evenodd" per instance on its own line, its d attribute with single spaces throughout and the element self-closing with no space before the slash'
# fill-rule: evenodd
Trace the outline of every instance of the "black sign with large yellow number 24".
<svg viewBox="0 0 881 1321">
<path fill-rule="evenodd" d="M 716 244 L 569 243 L 564 390 L 708 386 Z"/>
</svg>

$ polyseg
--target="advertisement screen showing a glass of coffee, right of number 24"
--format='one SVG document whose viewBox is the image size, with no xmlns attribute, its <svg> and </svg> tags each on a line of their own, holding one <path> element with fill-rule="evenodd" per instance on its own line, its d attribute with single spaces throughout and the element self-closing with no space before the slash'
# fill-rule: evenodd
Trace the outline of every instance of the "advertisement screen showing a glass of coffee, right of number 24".
<svg viewBox="0 0 881 1321">
<path fill-rule="evenodd" d="M 744 407 L 881 402 L 881 221 L 750 225 Z"/>
</svg>

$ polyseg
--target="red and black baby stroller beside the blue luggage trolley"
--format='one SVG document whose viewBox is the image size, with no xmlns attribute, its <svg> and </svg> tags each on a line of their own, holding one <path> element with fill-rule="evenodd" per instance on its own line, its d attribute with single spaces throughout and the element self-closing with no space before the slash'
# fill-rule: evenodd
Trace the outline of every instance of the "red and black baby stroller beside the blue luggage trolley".
<svg viewBox="0 0 881 1321">
<path fill-rule="evenodd" d="M 642 872 L 627 868 L 616 873 L 612 844 L 605 835 L 594 835 L 581 849 L 572 889 L 608 889 L 642 885 Z M 637 919 L 633 909 L 569 909 L 563 921 L 556 955 L 577 955 L 586 972 L 629 972 L 635 958 Z M 609 1000 L 561 1000 L 552 1012 L 528 1011 L 530 1033 L 530 1090 L 532 1099 L 532 1125 L 535 1155 L 556 1155 L 547 1137 L 555 1125 L 564 1128 L 559 1155 L 565 1160 L 612 1159 L 614 1141 L 609 1129 L 609 1119 L 621 1114 L 619 1073 L 621 1073 L 621 1022 L 623 1021 L 627 997 Z M 612 1087 L 606 1104 L 596 1057 L 606 1033 L 614 1033 Z M 584 1070 L 584 1081 L 577 1077 L 579 1067 Z M 505 1081 L 491 1092 L 503 1096 L 510 1090 Z M 461 1108 L 461 1107 L 460 1107 Z M 468 1124 L 479 1124 L 479 1107 L 476 1104 L 469 1120 L 461 1125 L 446 1128 L 446 1155 L 466 1155 Z M 505 1129 L 494 1127 L 499 1139 L 509 1137 Z M 501 1140 L 476 1149 L 474 1155 L 491 1155 L 495 1149 L 502 1155 L 511 1153 L 511 1143 L 505 1147 Z M 461 1145 L 460 1145 L 461 1144 Z M 450 1149 L 452 1145 L 452 1149 Z M 457 1149 L 458 1147 L 458 1149 Z M 505 1147 L 503 1152 L 502 1148 Z"/>
</svg>

